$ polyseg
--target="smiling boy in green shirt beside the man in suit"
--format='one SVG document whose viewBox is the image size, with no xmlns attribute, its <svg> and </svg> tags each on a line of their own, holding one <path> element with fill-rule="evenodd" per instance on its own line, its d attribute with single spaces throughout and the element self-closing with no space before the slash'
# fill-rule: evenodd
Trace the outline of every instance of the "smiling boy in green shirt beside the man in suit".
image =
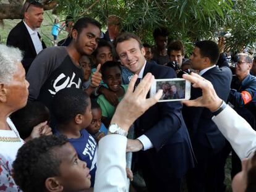
<svg viewBox="0 0 256 192">
<path fill-rule="evenodd" d="M 108 90 L 113 91 L 117 96 L 118 102 L 120 102 L 127 90 L 127 85 L 121 85 L 122 72 L 120 63 L 114 61 L 106 62 L 101 67 L 101 73 Z M 116 107 L 110 104 L 103 94 L 98 97 L 97 102 L 101 107 L 103 123 L 108 127 Z"/>
</svg>

